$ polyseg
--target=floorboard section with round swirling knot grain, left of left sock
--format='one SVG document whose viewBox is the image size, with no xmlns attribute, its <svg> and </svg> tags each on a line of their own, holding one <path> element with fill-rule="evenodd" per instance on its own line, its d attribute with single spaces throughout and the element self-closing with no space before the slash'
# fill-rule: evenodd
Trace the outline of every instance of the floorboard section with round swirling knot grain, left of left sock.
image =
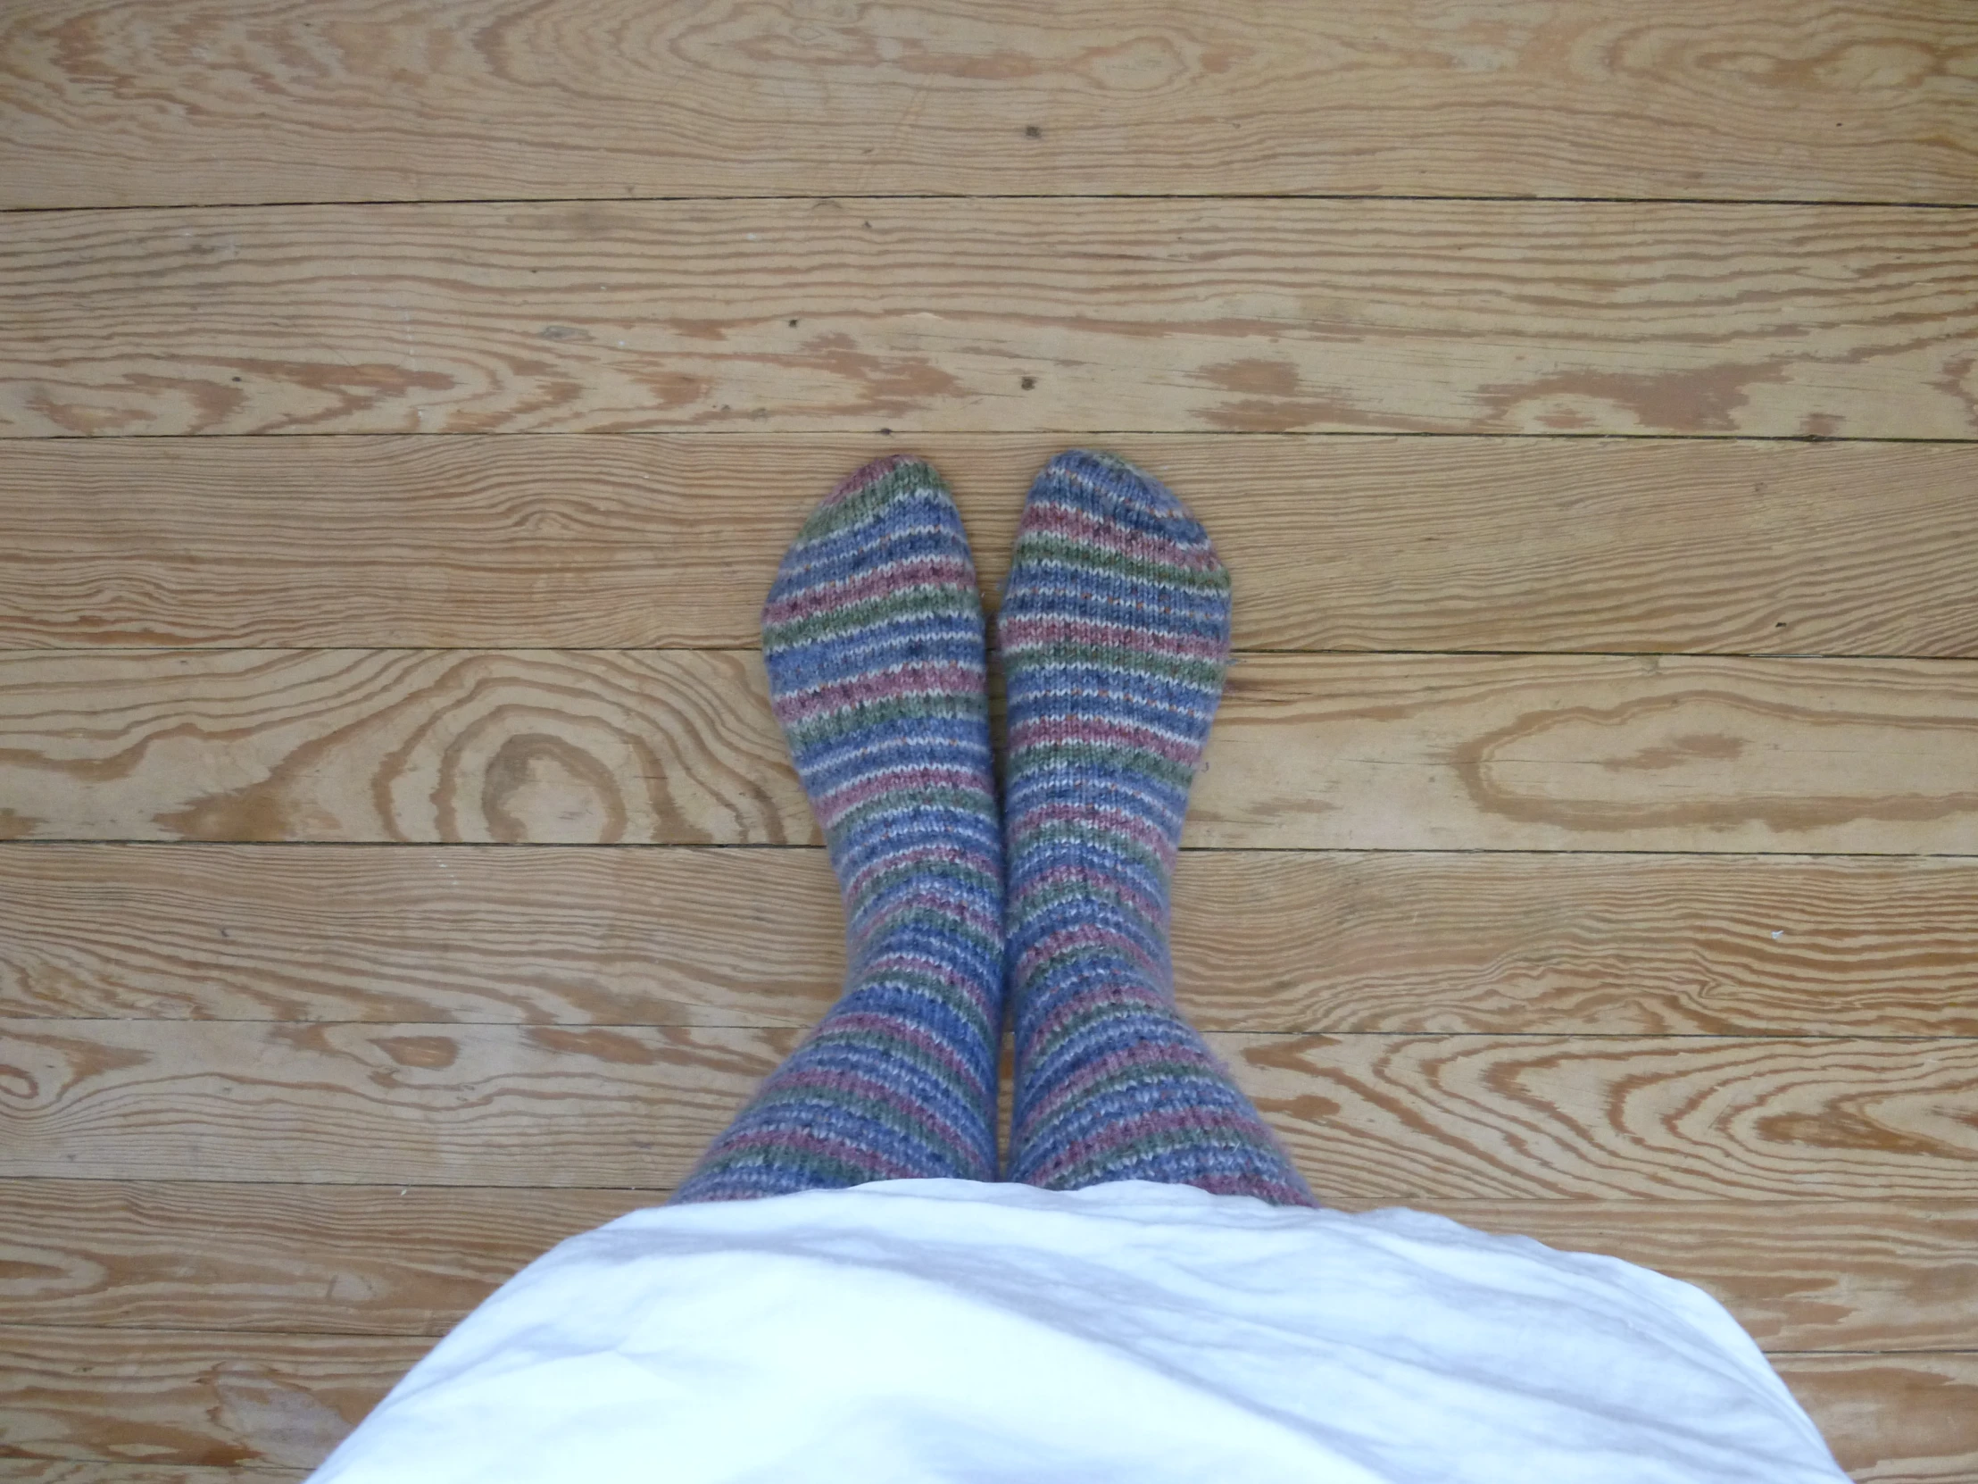
<svg viewBox="0 0 1978 1484">
<path fill-rule="evenodd" d="M 754 653 L 10 655 L 0 673 L 0 809 L 16 835 L 815 833 Z"/>
</svg>

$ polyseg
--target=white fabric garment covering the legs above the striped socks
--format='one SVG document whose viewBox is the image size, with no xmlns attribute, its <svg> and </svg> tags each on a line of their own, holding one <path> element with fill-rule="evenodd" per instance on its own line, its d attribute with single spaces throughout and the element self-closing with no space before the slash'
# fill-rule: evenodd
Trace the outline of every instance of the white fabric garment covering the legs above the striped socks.
<svg viewBox="0 0 1978 1484">
<path fill-rule="evenodd" d="M 908 1179 L 534 1262 L 315 1484 L 1845 1484 L 1707 1294 L 1416 1211 Z"/>
</svg>

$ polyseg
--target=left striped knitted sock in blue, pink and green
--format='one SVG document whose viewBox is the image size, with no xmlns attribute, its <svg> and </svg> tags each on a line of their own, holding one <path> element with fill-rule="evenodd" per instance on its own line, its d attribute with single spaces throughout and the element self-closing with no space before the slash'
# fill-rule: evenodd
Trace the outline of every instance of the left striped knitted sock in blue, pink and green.
<svg viewBox="0 0 1978 1484">
<path fill-rule="evenodd" d="M 1003 851 L 983 613 L 961 516 L 918 459 L 868 463 L 783 558 L 769 700 L 845 892 L 845 995 L 674 1201 L 995 1179 Z"/>
</svg>

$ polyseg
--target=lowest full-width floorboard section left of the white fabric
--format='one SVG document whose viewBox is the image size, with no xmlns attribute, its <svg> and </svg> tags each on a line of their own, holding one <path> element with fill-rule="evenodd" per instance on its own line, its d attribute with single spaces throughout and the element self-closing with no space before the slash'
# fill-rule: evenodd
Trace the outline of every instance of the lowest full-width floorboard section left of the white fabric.
<svg viewBox="0 0 1978 1484">
<path fill-rule="evenodd" d="M 0 1328 L 0 1446 L 16 1458 L 154 1468 L 315 1468 L 429 1347 L 372 1336 Z"/>
</svg>

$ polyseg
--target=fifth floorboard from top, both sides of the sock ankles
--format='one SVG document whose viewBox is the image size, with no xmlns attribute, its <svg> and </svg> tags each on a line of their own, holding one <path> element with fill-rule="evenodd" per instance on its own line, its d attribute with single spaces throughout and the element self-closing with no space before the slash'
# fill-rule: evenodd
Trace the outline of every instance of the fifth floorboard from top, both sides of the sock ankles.
<svg viewBox="0 0 1978 1484">
<path fill-rule="evenodd" d="M 0 851 L 0 1015 L 803 1027 L 821 851 Z M 1978 1035 L 1978 861 L 1189 851 L 1214 1031 Z"/>
</svg>

